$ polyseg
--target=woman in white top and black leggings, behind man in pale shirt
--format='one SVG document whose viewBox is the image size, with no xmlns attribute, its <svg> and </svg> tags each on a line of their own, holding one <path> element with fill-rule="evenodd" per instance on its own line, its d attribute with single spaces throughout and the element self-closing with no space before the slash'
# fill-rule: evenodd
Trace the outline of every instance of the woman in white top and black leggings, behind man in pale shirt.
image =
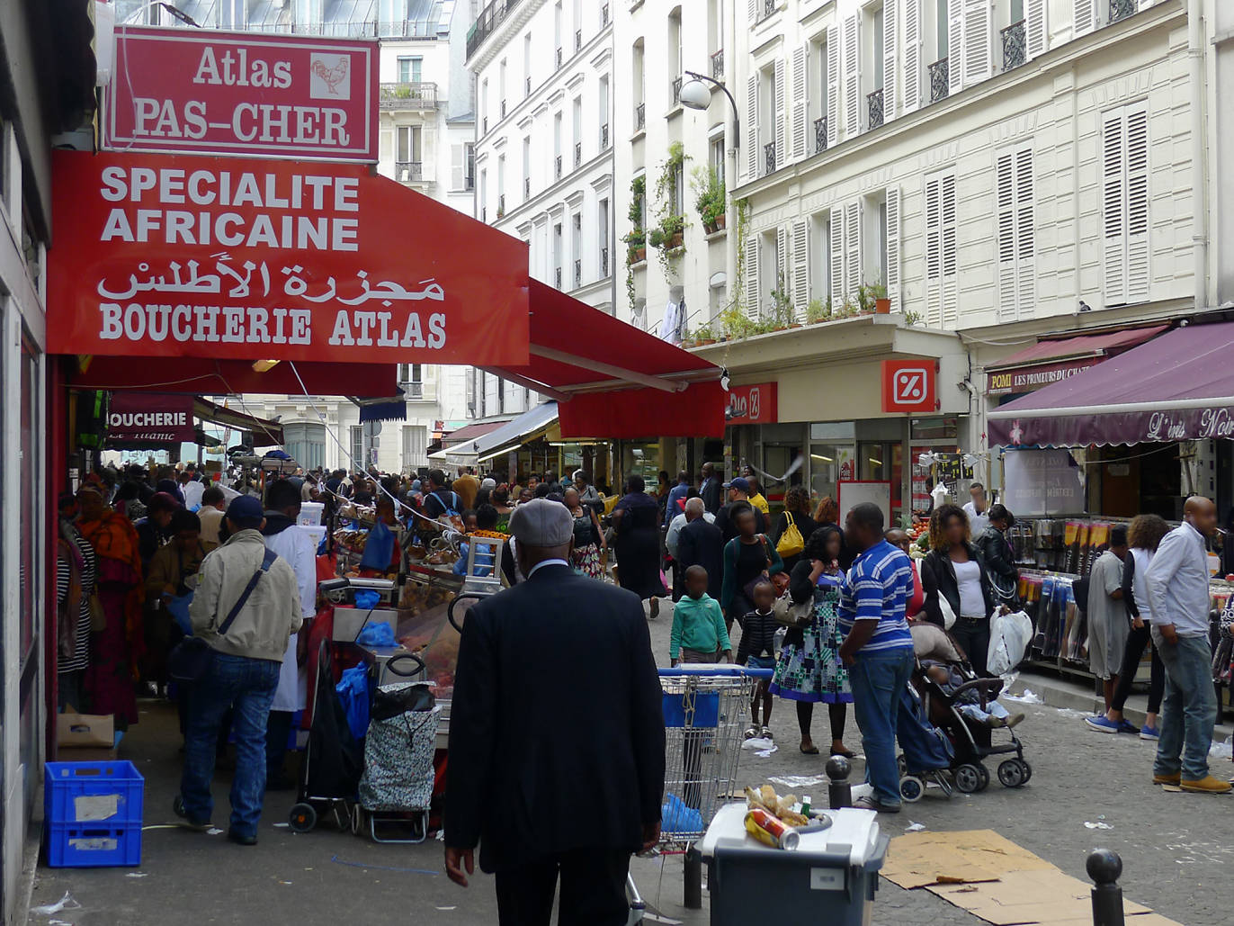
<svg viewBox="0 0 1234 926">
<path fill-rule="evenodd" d="M 1161 664 L 1156 647 L 1153 647 L 1149 709 L 1144 717 L 1144 726 L 1137 728 L 1134 724 L 1123 717 L 1123 706 L 1127 704 L 1127 696 L 1132 693 L 1132 683 L 1135 682 L 1135 673 L 1140 668 L 1144 647 L 1149 643 L 1151 612 L 1144 577 L 1148 574 L 1149 563 L 1156 554 L 1157 544 L 1169 532 L 1170 525 L 1159 515 L 1137 515 L 1127 532 L 1127 546 L 1130 547 L 1130 554 L 1123 563 L 1123 601 L 1127 605 L 1132 631 L 1127 637 L 1123 665 L 1118 670 L 1118 686 L 1111 699 L 1109 710 L 1106 711 L 1104 716 L 1085 717 L 1085 722 L 1090 727 L 1102 733 L 1139 733 L 1141 740 L 1159 737 L 1157 712 L 1161 710 L 1161 695 L 1165 690 L 1165 665 Z"/>
</svg>

